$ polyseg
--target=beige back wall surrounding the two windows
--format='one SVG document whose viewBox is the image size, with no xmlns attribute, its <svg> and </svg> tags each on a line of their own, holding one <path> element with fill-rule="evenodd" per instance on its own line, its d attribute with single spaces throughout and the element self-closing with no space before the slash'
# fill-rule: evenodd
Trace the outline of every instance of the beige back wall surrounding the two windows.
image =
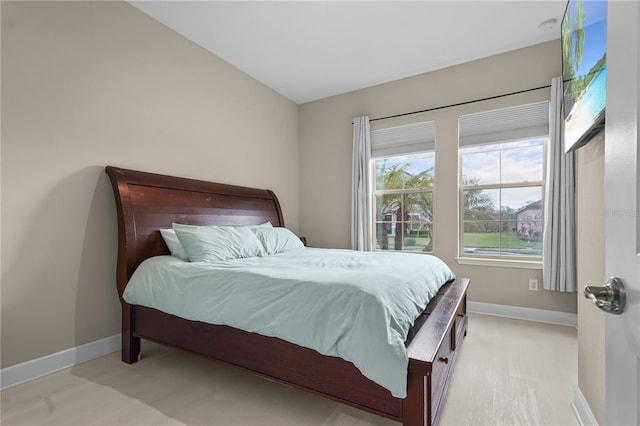
<svg viewBox="0 0 640 426">
<path fill-rule="evenodd" d="M 384 117 L 548 85 L 561 74 L 559 52 L 559 41 L 553 41 L 302 105 L 300 229 L 309 243 L 320 247 L 350 246 L 353 117 Z M 549 97 L 550 90 L 544 89 L 372 124 L 373 128 L 380 128 L 436 121 L 434 253 L 458 276 L 471 278 L 473 301 L 576 312 L 575 293 L 528 290 L 529 278 L 542 283 L 540 270 L 460 265 L 455 260 L 458 116 Z"/>
</svg>

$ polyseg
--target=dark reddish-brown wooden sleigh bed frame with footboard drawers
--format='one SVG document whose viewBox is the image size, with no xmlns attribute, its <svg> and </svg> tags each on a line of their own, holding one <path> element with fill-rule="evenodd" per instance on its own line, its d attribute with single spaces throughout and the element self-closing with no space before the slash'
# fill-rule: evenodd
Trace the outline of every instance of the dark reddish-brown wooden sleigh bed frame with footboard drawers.
<svg viewBox="0 0 640 426">
<path fill-rule="evenodd" d="M 295 344 L 228 326 L 189 321 L 155 309 L 129 305 L 122 293 L 136 267 L 169 254 L 160 228 L 193 225 L 284 226 L 275 194 L 252 189 L 108 166 L 118 216 L 116 282 L 122 303 L 122 360 L 140 357 L 140 339 L 206 355 L 295 388 L 322 395 L 405 426 L 436 424 L 467 331 L 468 279 L 442 287 L 407 340 L 407 397 L 395 398 L 350 362 Z"/>
</svg>

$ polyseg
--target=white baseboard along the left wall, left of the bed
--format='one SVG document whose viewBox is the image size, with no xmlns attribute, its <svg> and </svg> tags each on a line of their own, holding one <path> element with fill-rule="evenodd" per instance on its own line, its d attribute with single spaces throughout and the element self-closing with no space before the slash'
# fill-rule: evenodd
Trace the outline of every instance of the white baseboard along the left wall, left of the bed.
<svg viewBox="0 0 640 426">
<path fill-rule="evenodd" d="M 0 390 L 119 351 L 121 346 L 121 335 L 116 334 L 115 336 L 85 343 L 42 358 L 3 368 L 0 370 Z"/>
</svg>

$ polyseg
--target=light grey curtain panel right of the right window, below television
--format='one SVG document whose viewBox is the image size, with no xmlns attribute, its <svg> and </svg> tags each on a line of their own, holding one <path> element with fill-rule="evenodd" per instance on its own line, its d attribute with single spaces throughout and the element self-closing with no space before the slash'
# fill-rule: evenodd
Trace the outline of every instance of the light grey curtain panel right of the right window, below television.
<svg viewBox="0 0 640 426">
<path fill-rule="evenodd" d="M 564 152 L 562 78 L 551 81 L 542 282 L 545 290 L 576 291 L 573 152 Z"/>
</svg>

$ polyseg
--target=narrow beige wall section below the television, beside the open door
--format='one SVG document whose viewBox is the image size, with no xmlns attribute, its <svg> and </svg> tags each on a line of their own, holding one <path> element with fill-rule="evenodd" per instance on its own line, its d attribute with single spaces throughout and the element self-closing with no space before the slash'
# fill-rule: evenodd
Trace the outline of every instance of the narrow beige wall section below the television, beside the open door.
<svg viewBox="0 0 640 426">
<path fill-rule="evenodd" d="M 578 287 L 604 285 L 604 132 L 576 151 Z M 578 386 L 604 424 L 605 313 L 578 297 Z"/>
</svg>

